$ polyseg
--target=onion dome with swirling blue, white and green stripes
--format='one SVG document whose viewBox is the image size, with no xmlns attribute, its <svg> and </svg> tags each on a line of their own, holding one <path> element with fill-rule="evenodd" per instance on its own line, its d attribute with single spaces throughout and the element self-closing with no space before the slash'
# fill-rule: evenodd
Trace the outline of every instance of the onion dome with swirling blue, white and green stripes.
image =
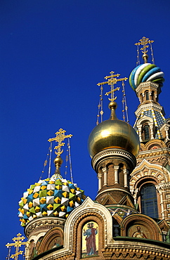
<svg viewBox="0 0 170 260">
<path fill-rule="evenodd" d="M 141 82 L 156 82 L 162 86 L 164 82 L 164 72 L 155 64 L 140 64 L 132 70 L 129 77 L 129 84 L 135 91 Z"/>
</svg>

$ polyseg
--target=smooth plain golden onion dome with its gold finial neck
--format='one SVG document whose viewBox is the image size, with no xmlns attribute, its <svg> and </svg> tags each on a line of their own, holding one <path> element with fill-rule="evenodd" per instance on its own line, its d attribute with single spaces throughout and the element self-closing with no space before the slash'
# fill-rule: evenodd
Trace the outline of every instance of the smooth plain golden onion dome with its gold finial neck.
<svg viewBox="0 0 170 260">
<path fill-rule="evenodd" d="M 110 102 L 110 119 L 98 124 L 89 136 L 88 148 L 91 157 L 108 148 L 119 148 L 130 152 L 135 157 L 138 155 L 140 141 L 133 127 L 117 119 L 115 109 L 117 103 Z"/>
</svg>

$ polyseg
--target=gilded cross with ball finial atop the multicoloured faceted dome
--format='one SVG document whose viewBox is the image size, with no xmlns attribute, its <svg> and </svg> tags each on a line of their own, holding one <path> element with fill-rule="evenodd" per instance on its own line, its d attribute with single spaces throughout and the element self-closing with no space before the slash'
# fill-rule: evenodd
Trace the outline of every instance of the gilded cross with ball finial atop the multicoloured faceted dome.
<svg viewBox="0 0 170 260">
<path fill-rule="evenodd" d="M 68 134 L 65 136 L 65 130 L 63 130 L 62 128 L 60 128 L 56 133 L 55 133 L 55 137 L 54 138 L 49 138 L 48 142 L 58 142 L 58 145 L 55 146 L 55 155 L 57 155 L 57 157 L 55 157 L 54 160 L 54 164 L 55 164 L 55 174 L 60 174 L 60 166 L 63 163 L 62 158 L 60 157 L 60 155 L 63 153 L 63 149 L 61 149 L 62 146 L 65 145 L 65 143 L 63 143 L 63 141 L 65 140 L 65 138 L 71 138 L 72 134 Z"/>
</svg>

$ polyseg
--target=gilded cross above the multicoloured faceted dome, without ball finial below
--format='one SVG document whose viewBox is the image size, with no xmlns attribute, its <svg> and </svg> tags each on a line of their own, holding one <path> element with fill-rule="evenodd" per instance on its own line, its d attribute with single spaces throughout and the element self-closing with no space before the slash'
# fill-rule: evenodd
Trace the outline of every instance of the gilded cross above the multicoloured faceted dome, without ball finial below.
<svg viewBox="0 0 170 260">
<path fill-rule="evenodd" d="M 72 134 L 67 134 L 67 136 L 65 136 L 65 130 L 63 130 L 62 128 L 60 128 L 56 133 L 55 133 L 55 137 L 54 138 L 50 138 L 48 139 L 48 142 L 58 142 L 58 145 L 55 146 L 55 150 L 57 150 L 57 152 L 55 151 L 55 155 L 58 155 L 58 157 L 60 157 L 60 155 L 62 154 L 63 150 L 61 150 L 61 147 L 65 145 L 65 143 L 62 143 L 63 140 L 65 140 L 65 138 L 70 138 L 72 137 Z"/>
</svg>

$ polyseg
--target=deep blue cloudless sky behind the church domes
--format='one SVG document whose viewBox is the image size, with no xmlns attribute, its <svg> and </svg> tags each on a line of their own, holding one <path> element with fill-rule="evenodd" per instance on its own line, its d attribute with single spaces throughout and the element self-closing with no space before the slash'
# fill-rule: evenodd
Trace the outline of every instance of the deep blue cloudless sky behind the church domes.
<svg viewBox="0 0 170 260">
<path fill-rule="evenodd" d="M 73 135 L 74 182 L 95 199 L 98 181 L 87 140 L 96 126 L 100 94 L 96 84 L 111 70 L 129 77 L 136 67 L 134 44 L 143 36 L 155 41 L 155 64 L 165 74 L 159 103 L 169 117 L 169 8 L 169 0 L 1 0 L 1 259 L 8 253 L 6 243 L 19 232 L 24 235 L 18 201 L 30 184 L 39 181 L 47 140 L 58 129 Z M 133 125 L 138 98 L 128 82 L 125 87 Z M 121 100 L 119 91 L 119 119 Z M 108 119 L 107 99 L 104 105 Z M 46 167 L 43 178 L 47 171 Z"/>
</svg>

